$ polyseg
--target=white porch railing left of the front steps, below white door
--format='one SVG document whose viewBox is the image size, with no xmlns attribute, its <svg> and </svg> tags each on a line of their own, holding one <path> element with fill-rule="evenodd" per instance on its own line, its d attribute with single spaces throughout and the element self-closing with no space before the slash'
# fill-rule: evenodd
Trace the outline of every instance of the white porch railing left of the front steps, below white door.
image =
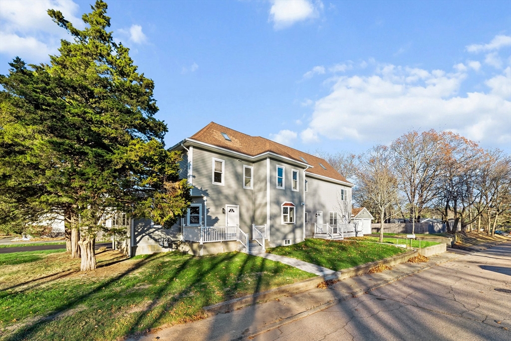
<svg viewBox="0 0 511 341">
<path fill-rule="evenodd" d="M 248 235 L 239 226 L 183 226 L 183 240 L 203 243 L 239 241 L 248 252 Z"/>
</svg>

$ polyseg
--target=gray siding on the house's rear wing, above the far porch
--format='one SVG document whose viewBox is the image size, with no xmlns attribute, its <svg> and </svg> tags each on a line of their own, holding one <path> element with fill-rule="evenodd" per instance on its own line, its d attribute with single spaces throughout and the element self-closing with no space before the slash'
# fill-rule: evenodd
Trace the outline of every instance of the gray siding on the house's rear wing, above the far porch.
<svg viewBox="0 0 511 341">
<path fill-rule="evenodd" d="M 308 222 L 305 227 L 305 237 L 312 238 L 314 223 L 317 222 L 316 212 L 323 212 L 323 223 L 328 223 L 330 212 L 338 213 L 338 222 L 342 222 L 342 214 L 351 212 L 351 189 L 347 186 L 331 183 L 311 176 L 306 176 L 308 190 L 305 194 L 305 208 Z M 346 192 L 346 200 L 341 200 L 341 189 Z"/>
</svg>

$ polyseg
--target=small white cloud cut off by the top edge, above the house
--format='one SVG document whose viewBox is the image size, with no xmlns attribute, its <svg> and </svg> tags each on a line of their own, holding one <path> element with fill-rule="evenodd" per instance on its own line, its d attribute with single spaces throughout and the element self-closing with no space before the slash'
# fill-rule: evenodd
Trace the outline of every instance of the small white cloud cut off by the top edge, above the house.
<svg viewBox="0 0 511 341">
<path fill-rule="evenodd" d="M 319 16 L 323 3 L 312 3 L 308 0 L 274 0 L 270 8 L 269 21 L 273 22 L 275 30 L 292 26 L 295 22 L 313 19 Z"/>
</svg>

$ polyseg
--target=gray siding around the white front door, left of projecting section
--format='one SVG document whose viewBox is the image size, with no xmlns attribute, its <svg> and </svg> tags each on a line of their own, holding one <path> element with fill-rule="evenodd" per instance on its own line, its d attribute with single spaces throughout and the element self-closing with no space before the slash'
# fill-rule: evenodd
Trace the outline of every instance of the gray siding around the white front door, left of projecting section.
<svg viewBox="0 0 511 341">
<path fill-rule="evenodd" d="M 213 184 L 213 158 L 224 161 L 224 185 Z M 207 225 L 225 226 L 226 215 L 222 213 L 226 204 L 240 207 L 240 228 L 252 233 L 253 193 L 243 188 L 243 166 L 253 166 L 251 162 L 221 153 L 193 149 L 193 195 L 202 195 L 207 200 Z M 204 210 L 204 208 L 203 208 Z"/>
</svg>

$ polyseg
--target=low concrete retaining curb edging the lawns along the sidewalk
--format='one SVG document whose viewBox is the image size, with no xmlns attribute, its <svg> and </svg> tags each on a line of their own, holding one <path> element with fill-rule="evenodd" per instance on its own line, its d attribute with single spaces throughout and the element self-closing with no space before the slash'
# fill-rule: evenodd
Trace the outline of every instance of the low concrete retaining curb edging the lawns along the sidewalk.
<svg viewBox="0 0 511 341">
<path fill-rule="evenodd" d="M 235 310 L 237 308 L 242 308 L 248 305 L 252 305 L 254 303 L 257 303 L 259 301 L 268 301 L 272 300 L 277 297 L 281 297 L 285 294 L 295 294 L 298 292 L 307 291 L 310 289 L 314 289 L 317 287 L 317 285 L 323 281 L 328 280 L 342 280 L 345 278 L 353 277 L 356 275 L 362 275 L 367 273 L 371 267 L 378 266 L 378 265 L 395 265 L 399 263 L 404 263 L 408 261 L 408 259 L 414 257 L 417 255 L 417 252 L 409 251 L 404 254 L 399 254 L 393 257 L 385 258 L 379 261 L 370 262 L 366 264 L 362 264 L 359 266 L 355 266 L 349 269 L 344 269 L 341 271 L 337 271 L 332 275 L 324 275 L 324 276 L 318 276 L 313 277 L 304 281 L 296 282 L 293 284 L 284 285 L 278 288 L 254 293 L 251 295 L 243 296 L 237 299 L 220 302 L 211 306 L 204 307 L 203 310 L 206 313 L 216 314 L 220 312 L 229 312 L 231 310 Z"/>
</svg>

